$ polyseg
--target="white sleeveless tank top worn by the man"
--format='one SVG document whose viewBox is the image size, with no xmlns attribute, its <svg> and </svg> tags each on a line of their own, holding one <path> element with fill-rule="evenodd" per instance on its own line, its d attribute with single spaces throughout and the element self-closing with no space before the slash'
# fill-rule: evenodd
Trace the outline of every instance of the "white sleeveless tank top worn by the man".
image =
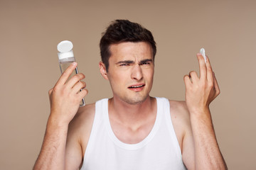
<svg viewBox="0 0 256 170">
<path fill-rule="evenodd" d="M 186 169 L 171 123 L 169 100 L 156 98 L 154 127 L 137 144 L 126 144 L 112 131 L 108 99 L 95 104 L 95 119 L 85 151 L 82 170 L 171 170 Z"/>
</svg>

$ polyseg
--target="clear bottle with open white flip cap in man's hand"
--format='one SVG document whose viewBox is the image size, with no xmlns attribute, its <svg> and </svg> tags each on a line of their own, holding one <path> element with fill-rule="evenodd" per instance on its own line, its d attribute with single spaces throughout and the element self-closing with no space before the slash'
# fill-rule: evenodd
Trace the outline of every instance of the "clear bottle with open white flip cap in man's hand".
<svg viewBox="0 0 256 170">
<path fill-rule="evenodd" d="M 75 62 L 75 57 L 73 54 L 73 43 L 68 40 L 63 40 L 62 42 L 58 43 L 57 45 L 58 49 L 58 58 L 60 63 L 60 72 L 63 74 L 65 69 L 68 68 L 68 66 Z M 73 73 L 70 75 L 68 79 L 73 77 L 75 74 L 78 74 L 78 67 L 75 68 Z M 82 91 L 82 90 L 80 90 Z M 82 98 L 82 101 L 80 102 L 80 107 L 85 106 L 85 99 Z"/>
</svg>

